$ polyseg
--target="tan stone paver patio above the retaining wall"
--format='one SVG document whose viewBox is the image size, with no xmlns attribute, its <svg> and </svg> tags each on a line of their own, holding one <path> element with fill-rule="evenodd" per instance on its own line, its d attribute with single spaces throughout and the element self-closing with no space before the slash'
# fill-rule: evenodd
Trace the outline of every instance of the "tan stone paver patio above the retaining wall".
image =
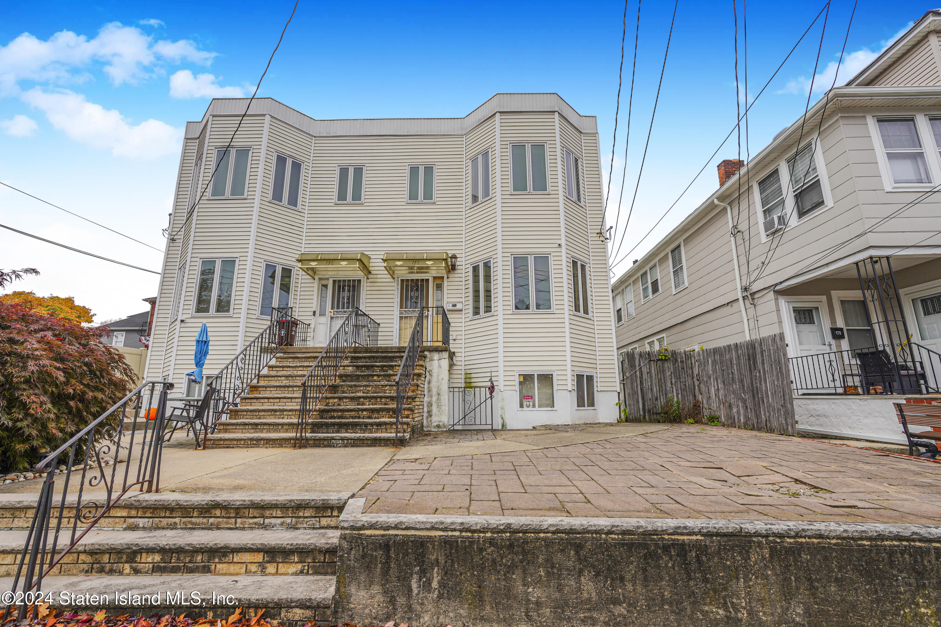
<svg viewBox="0 0 941 627">
<path fill-rule="evenodd" d="M 937 525 L 941 463 L 673 425 L 565 447 L 391 460 L 357 496 L 366 513 Z"/>
</svg>

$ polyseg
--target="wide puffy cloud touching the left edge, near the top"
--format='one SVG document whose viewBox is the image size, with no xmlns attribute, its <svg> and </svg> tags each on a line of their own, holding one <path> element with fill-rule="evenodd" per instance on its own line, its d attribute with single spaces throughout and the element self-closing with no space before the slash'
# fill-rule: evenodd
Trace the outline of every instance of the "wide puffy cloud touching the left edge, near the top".
<svg viewBox="0 0 941 627">
<path fill-rule="evenodd" d="M 136 83 L 164 63 L 183 61 L 209 65 L 215 53 L 201 51 L 193 41 L 154 41 L 136 26 L 104 24 L 88 39 L 63 30 L 45 41 L 23 33 L 0 46 L 0 94 L 16 93 L 20 81 L 79 82 L 88 78 L 80 70 L 92 62 L 104 63 L 111 83 Z"/>
</svg>

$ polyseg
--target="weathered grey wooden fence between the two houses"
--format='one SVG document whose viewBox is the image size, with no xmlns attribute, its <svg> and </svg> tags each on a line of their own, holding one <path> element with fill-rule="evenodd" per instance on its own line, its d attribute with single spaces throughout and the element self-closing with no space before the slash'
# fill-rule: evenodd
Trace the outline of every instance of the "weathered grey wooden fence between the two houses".
<svg viewBox="0 0 941 627">
<path fill-rule="evenodd" d="M 621 392 L 629 420 L 662 420 L 672 396 L 684 409 L 699 400 L 703 414 L 719 415 L 726 427 L 794 434 L 784 334 L 669 353 L 669 359 L 647 351 L 624 355 Z"/>
</svg>

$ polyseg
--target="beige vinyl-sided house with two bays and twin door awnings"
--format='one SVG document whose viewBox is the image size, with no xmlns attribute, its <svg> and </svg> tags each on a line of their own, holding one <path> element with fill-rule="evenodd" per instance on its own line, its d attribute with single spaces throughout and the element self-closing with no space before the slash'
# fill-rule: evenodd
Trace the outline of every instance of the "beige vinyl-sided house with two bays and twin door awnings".
<svg viewBox="0 0 941 627">
<path fill-rule="evenodd" d="M 222 368 L 269 323 L 264 286 L 274 277 L 276 306 L 311 323 L 316 346 L 335 328 L 334 310 L 359 306 L 379 323 L 380 344 L 403 345 L 410 298 L 447 304 L 451 385 L 492 378 L 498 428 L 616 418 L 595 118 L 555 94 L 498 94 L 444 119 L 318 120 L 257 99 L 235 132 L 246 106 L 214 100 L 187 124 L 149 376 L 183 384 L 203 321 L 204 369 Z M 232 164 L 249 151 L 244 175 L 229 165 L 245 189 L 239 179 L 239 194 L 213 196 L 230 140 Z M 284 173 L 294 166 L 292 203 Z M 219 272 L 223 261 L 231 268 L 231 304 L 219 311 L 199 296 L 213 259 Z M 212 281 L 215 307 L 223 280 Z"/>
</svg>

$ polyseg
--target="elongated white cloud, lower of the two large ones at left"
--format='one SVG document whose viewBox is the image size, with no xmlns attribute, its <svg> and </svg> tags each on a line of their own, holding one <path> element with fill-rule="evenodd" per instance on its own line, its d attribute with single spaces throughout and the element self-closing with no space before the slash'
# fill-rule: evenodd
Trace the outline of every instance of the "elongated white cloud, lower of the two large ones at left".
<svg viewBox="0 0 941 627">
<path fill-rule="evenodd" d="M 56 129 L 75 141 L 110 149 L 116 156 L 155 159 L 177 152 L 183 140 L 183 129 L 157 119 L 132 125 L 117 110 L 88 102 L 85 96 L 66 89 L 34 87 L 21 98 L 40 109 Z"/>
</svg>

